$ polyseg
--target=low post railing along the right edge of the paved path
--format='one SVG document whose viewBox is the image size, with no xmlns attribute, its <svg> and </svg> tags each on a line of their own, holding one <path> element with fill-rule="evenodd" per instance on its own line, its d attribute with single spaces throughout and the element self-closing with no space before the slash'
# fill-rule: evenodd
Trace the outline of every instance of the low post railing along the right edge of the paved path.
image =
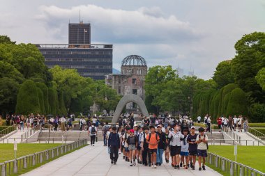
<svg viewBox="0 0 265 176">
<path fill-rule="evenodd" d="M 208 157 L 206 158 L 206 162 L 211 164 L 215 168 L 219 168 L 223 172 L 227 173 L 227 175 L 231 176 L 258 176 L 265 175 L 259 170 L 255 168 L 251 168 L 249 166 L 245 166 L 242 163 L 237 163 L 235 161 L 229 160 L 224 157 L 220 157 L 217 154 L 208 153 Z"/>
</svg>

